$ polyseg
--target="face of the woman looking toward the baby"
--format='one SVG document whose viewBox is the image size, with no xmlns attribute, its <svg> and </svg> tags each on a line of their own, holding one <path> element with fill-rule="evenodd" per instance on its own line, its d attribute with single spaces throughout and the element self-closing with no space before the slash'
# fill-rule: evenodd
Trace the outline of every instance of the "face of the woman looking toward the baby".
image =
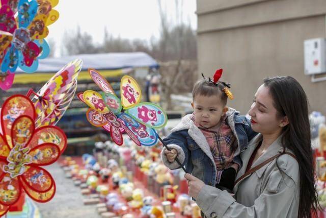
<svg viewBox="0 0 326 218">
<path fill-rule="evenodd" d="M 277 116 L 269 88 L 261 85 L 248 112 L 251 116 L 251 127 L 255 132 L 262 134 L 280 134 L 284 124 L 282 118 Z"/>
</svg>

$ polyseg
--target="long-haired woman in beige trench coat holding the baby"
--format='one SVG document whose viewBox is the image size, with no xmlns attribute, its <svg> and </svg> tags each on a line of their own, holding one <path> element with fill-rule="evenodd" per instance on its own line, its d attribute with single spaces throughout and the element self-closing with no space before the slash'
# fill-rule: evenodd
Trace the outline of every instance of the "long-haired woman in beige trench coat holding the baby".
<svg viewBox="0 0 326 218">
<path fill-rule="evenodd" d="M 241 154 L 234 197 L 186 174 L 189 195 L 212 218 L 316 215 L 308 102 L 301 85 L 292 77 L 265 79 L 249 115 L 260 134 Z"/>
</svg>

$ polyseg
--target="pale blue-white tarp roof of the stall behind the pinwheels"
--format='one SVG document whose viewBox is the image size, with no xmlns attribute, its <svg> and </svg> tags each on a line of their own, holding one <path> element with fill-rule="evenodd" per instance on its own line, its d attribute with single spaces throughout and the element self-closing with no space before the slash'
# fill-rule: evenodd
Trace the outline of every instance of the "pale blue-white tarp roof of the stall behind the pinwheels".
<svg viewBox="0 0 326 218">
<path fill-rule="evenodd" d="M 61 58 L 45 58 L 39 60 L 36 72 L 57 72 L 63 66 L 75 59 L 83 60 L 82 70 L 94 69 L 121 69 L 127 67 L 150 67 L 158 68 L 158 63 L 144 52 L 132 53 L 105 53 L 105 54 L 81 54 Z M 17 68 L 16 73 L 23 72 Z"/>
</svg>

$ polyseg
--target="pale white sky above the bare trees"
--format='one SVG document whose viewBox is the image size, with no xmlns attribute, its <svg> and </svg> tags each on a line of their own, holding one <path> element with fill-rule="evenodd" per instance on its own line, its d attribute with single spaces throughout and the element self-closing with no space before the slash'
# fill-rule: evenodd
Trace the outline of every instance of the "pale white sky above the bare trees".
<svg viewBox="0 0 326 218">
<path fill-rule="evenodd" d="M 182 6 L 182 20 L 196 30 L 196 0 L 161 0 L 162 8 L 169 15 L 169 23 L 177 23 L 176 2 Z M 54 9 L 60 16 L 48 27 L 47 39 L 55 41 L 56 57 L 61 56 L 64 33 L 76 31 L 77 26 L 98 43 L 103 41 L 105 27 L 108 33 L 121 38 L 149 40 L 159 36 L 158 0 L 59 0 Z"/>
</svg>

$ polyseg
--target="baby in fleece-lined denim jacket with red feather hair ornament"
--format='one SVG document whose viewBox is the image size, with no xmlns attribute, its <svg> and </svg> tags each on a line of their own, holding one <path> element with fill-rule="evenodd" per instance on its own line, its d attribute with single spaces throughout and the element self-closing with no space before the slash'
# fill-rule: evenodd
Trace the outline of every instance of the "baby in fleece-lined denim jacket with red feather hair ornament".
<svg viewBox="0 0 326 218">
<path fill-rule="evenodd" d="M 198 81 L 193 88 L 194 113 L 185 115 L 164 139 L 171 151 L 163 148 L 161 158 L 170 169 L 180 166 L 205 184 L 231 192 L 235 175 L 242 165 L 240 152 L 257 133 L 250 120 L 228 108 L 230 84 L 219 82 L 222 69 L 213 80 Z M 204 77 L 204 76 L 203 76 Z"/>
</svg>

